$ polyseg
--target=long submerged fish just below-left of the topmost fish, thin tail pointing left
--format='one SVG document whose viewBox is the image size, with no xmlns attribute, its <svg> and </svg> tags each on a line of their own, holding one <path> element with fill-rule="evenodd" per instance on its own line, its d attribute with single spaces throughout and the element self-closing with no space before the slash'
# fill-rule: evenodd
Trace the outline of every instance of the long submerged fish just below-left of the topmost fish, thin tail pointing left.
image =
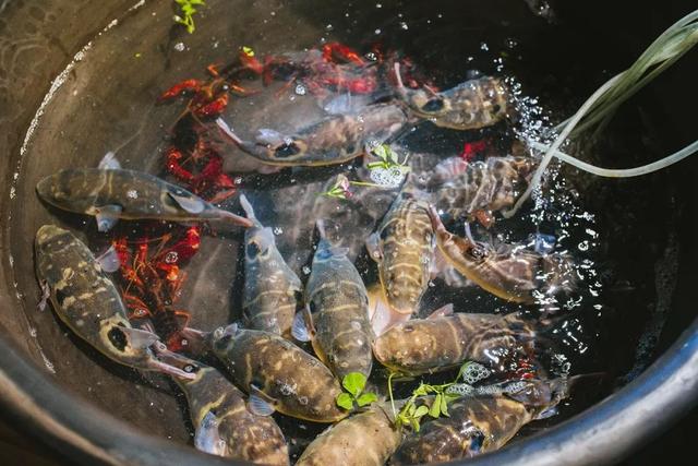
<svg viewBox="0 0 698 466">
<path fill-rule="evenodd" d="M 327 117 L 294 134 L 261 129 L 254 141 L 242 140 L 220 118 L 216 123 L 231 142 L 265 164 L 306 167 L 342 164 L 370 153 L 398 134 L 408 117 L 399 105 L 376 104 L 358 113 Z"/>
</svg>

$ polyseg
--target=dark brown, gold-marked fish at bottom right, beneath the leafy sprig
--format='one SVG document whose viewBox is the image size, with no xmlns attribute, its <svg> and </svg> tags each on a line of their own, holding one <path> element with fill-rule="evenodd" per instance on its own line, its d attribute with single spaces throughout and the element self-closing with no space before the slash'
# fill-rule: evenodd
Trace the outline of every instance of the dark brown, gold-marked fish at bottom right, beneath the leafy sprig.
<svg viewBox="0 0 698 466">
<path fill-rule="evenodd" d="M 564 378 L 508 384 L 502 393 L 449 403 L 449 416 L 425 422 L 419 432 L 408 434 L 389 464 L 441 464 L 497 450 L 526 423 L 554 414 L 568 390 Z"/>
</svg>

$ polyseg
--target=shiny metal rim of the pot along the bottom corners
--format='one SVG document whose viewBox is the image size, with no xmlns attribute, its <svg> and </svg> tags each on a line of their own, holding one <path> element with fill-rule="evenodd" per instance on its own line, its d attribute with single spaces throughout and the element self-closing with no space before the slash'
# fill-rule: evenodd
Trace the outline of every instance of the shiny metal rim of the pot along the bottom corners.
<svg viewBox="0 0 698 466">
<path fill-rule="evenodd" d="M 143 466 L 244 464 L 133 429 L 61 389 L 3 339 L 0 368 L 0 404 L 16 420 L 16 427 L 73 461 Z M 698 319 L 640 377 L 618 392 L 544 432 L 467 464 L 614 463 L 666 429 L 697 402 Z"/>
</svg>

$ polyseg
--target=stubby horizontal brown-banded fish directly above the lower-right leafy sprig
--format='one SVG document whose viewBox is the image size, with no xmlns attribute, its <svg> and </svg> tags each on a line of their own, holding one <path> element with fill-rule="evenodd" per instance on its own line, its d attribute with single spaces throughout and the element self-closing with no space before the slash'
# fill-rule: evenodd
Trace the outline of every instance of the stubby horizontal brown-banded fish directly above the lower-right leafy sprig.
<svg viewBox="0 0 698 466">
<path fill-rule="evenodd" d="M 465 361 L 498 363 L 504 353 L 530 348 L 535 331 L 518 313 L 455 313 L 442 308 L 377 336 L 373 355 L 406 375 L 441 372 Z M 497 356 L 500 355 L 500 356 Z"/>
</svg>

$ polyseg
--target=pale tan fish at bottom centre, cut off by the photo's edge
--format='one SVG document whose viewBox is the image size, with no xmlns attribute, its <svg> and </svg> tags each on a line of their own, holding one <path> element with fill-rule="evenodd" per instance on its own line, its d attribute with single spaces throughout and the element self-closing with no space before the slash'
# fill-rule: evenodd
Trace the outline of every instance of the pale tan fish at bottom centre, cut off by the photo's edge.
<svg viewBox="0 0 698 466">
<path fill-rule="evenodd" d="M 296 466 L 382 466 L 402 440 L 400 428 L 382 406 L 372 405 L 321 433 Z"/>
</svg>

